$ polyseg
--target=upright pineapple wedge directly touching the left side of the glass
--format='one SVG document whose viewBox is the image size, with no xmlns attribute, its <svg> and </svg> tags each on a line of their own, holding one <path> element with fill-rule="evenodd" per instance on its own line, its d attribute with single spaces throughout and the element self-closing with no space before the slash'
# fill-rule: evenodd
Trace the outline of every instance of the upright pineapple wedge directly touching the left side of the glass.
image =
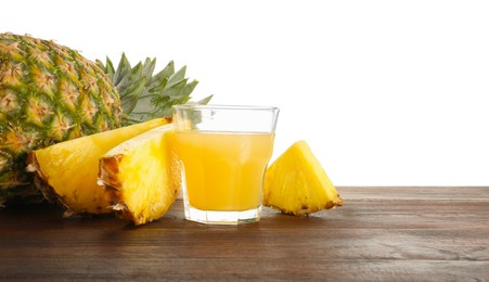
<svg viewBox="0 0 489 282">
<path fill-rule="evenodd" d="M 119 217 L 136 226 L 156 220 L 173 204 L 181 185 L 172 148 L 173 125 L 132 138 L 100 158 L 99 183 Z"/>
</svg>

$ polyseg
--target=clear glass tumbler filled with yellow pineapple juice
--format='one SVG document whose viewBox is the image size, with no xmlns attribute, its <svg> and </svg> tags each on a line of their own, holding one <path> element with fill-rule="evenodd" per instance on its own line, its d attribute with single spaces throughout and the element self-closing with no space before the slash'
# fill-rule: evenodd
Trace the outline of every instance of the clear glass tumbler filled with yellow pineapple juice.
<svg viewBox="0 0 489 282">
<path fill-rule="evenodd" d="M 185 218 L 207 225 L 260 220 L 279 108 L 183 104 L 173 110 Z"/>
</svg>

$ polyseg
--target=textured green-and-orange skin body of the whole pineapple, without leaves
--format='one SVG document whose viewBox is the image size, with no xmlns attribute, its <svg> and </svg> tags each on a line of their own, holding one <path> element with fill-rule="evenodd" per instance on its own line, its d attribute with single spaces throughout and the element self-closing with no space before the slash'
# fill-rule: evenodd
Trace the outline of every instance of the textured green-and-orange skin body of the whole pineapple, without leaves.
<svg viewBox="0 0 489 282">
<path fill-rule="evenodd" d="M 120 119 L 119 95 L 95 63 L 53 41 L 0 34 L 0 204 L 39 196 L 25 172 L 28 152 Z"/>
</svg>

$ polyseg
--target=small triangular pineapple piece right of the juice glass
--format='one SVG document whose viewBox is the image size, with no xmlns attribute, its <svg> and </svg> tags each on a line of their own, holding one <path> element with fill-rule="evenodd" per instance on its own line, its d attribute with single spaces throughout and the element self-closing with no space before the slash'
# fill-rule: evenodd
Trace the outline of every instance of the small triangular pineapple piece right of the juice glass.
<svg viewBox="0 0 489 282">
<path fill-rule="evenodd" d="M 283 214 L 308 215 L 342 206 L 343 200 L 309 145 L 298 141 L 267 169 L 262 204 Z"/>
</svg>

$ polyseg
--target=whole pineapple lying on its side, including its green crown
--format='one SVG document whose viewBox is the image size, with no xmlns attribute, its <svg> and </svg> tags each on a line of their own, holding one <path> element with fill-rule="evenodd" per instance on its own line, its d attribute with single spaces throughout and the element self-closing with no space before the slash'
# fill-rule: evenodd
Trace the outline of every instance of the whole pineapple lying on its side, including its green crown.
<svg viewBox="0 0 489 282">
<path fill-rule="evenodd" d="M 27 153 L 167 114 L 186 102 L 197 81 L 170 62 L 153 76 L 155 60 L 115 69 L 77 51 L 30 36 L 0 34 L 0 205 L 42 200 Z M 207 102 L 210 97 L 201 102 Z M 137 110 L 137 111 L 134 111 Z"/>
</svg>

